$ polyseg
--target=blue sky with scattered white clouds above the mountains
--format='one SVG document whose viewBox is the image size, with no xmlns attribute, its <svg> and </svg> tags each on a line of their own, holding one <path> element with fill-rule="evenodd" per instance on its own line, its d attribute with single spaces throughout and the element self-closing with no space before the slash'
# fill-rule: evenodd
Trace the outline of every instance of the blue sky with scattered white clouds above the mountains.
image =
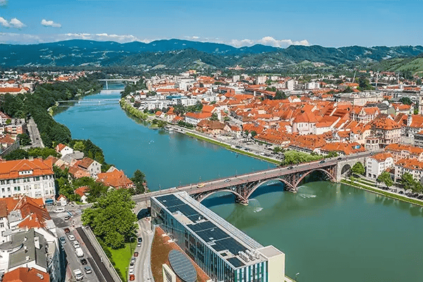
<svg viewBox="0 0 423 282">
<path fill-rule="evenodd" d="M 423 44 L 423 1 L 0 0 L 0 42 L 190 39 L 233 46 Z"/>
</svg>

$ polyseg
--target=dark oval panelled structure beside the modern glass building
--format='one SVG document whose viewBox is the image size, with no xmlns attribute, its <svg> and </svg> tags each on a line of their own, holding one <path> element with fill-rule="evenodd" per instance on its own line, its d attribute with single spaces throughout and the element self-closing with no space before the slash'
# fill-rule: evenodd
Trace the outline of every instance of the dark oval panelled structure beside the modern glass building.
<svg viewBox="0 0 423 282">
<path fill-rule="evenodd" d="M 190 259 L 183 252 L 171 250 L 168 255 L 173 271 L 185 282 L 197 281 L 197 271 Z"/>
</svg>

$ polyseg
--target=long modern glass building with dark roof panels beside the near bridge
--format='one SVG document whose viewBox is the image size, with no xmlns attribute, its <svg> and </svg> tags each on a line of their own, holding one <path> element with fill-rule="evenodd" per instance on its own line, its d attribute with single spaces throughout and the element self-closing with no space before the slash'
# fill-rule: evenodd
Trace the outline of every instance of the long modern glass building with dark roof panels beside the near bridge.
<svg viewBox="0 0 423 282">
<path fill-rule="evenodd" d="M 283 282 L 285 254 L 263 247 L 187 192 L 151 198 L 160 226 L 213 281 Z"/>
</svg>

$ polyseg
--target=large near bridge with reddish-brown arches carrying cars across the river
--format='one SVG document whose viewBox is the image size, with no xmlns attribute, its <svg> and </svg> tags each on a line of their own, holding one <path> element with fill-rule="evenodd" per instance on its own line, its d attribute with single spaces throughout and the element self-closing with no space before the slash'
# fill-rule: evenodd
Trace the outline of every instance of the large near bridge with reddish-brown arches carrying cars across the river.
<svg viewBox="0 0 423 282">
<path fill-rule="evenodd" d="M 133 200 L 135 202 L 147 202 L 152 196 L 186 191 L 195 200 L 201 202 L 216 192 L 231 192 L 235 195 L 237 202 L 248 204 L 248 199 L 252 193 L 264 183 L 278 181 L 285 184 L 286 190 L 295 192 L 298 190 L 298 185 L 300 185 L 301 181 L 314 171 L 324 173 L 331 181 L 338 181 L 341 180 L 343 173 L 350 171 L 357 161 L 361 161 L 362 164 L 364 164 L 365 158 L 369 157 L 371 154 L 370 152 L 364 152 L 341 158 L 327 159 L 323 163 L 320 161 L 313 161 L 307 164 L 299 164 L 298 166 L 270 168 L 264 171 L 245 173 L 240 176 L 219 178 L 203 183 L 183 185 L 176 188 L 135 195 L 133 196 Z"/>
</svg>

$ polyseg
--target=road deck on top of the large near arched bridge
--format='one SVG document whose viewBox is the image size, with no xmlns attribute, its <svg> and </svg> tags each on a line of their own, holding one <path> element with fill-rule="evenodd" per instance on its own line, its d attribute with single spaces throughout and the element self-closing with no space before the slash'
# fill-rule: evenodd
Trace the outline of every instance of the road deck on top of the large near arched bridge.
<svg viewBox="0 0 423 282">
<path fill-rule="evenodd" d="M 378 151 L 379 152 L 379 151 Z M 338 157 L 333 159 L 326 159 L 326 161 L 321 164 L 319 161 L 313 161 L 307 164 L 299 164 L 298 166 L 293 166 L 292 169 L 289 167 L 277 167 L 277 168 L 270 168 L 264 171 L 256 171 L 253 173 L 245 173 L 239 176 L 232 176 L 228 178 L 219 178 L 211 181 L 204 181 L 204 187 L 197 188 L 197 183 L 193 183 L 192 185 L 184 185 L 180 187 L 168 188 L 165 190 L 159 190 L 154 192 L 148 192 L 142 195 L 135 195 L 133 196 L 133 200 L 135 202 L 145 202 L 149 200 L 152 196 L 164 195 L 170 192 L 178 192 L 178 191 L 186 191 L 188 194 L 197 194 L 200 192 L 208 192 L 212 190 L 218 190 L 221 188 L 228 188 L 233 185 L 239 185 L 244 183 L 249 183 L 256 180 L 268 179 L 268 178 L 276 178 L 278 176 L 282 176 L 289 173 L 295 173 L 298 171 L 305 171 L 314 168 L 321 168 L 324 166 L 329 166 L 333 164 L 337 164 L 338 161 L 347 161 L 350 159 L 357 159 L 361 157 L 369 157 L 375 152 L 364 152 L 360 154 L 349 155 L 345 157 L 341 157 L 341 160 L 338 160 Z"/>
</svg>

